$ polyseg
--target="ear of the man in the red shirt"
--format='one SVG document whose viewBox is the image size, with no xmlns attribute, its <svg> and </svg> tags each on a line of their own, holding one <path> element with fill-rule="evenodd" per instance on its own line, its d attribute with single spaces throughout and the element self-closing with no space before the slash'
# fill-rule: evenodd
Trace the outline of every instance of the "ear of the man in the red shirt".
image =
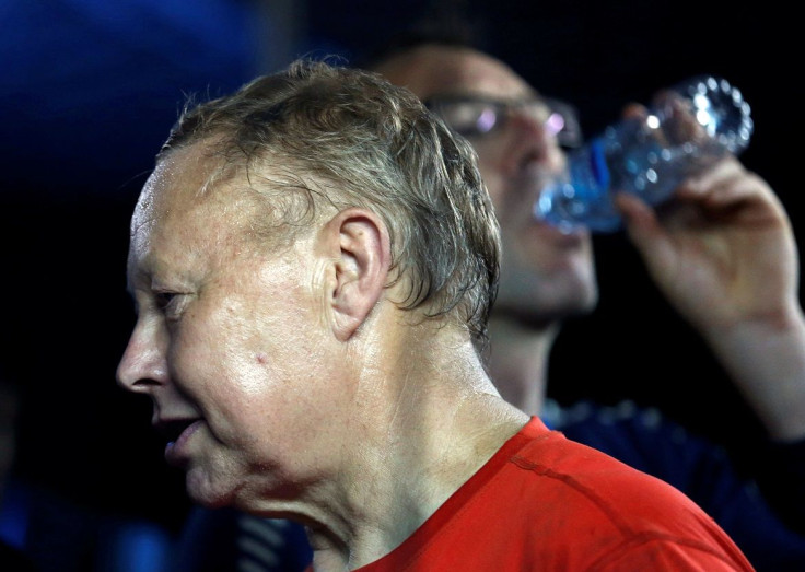
<svg viewBox="0 0 805 572">
<path fill-rule="evenodd" d="M 383 221 L 373 212 L 351 208 L 336 214 L 323 229 L 334 260 L 327 281 L 336 337 L 348 340 L 366 319 L 383 294 L 390 264 L 390 241 Z"/>
</svg>

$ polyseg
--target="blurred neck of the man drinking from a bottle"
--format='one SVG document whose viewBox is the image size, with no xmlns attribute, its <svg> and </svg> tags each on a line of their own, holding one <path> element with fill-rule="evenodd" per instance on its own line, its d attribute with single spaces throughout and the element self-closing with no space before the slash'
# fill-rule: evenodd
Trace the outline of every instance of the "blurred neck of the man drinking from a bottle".
<svg viewBox="0 0 805 572">
<path fill-rule="evenodd" d="M 489 322 L 490 376 L 501 396 L 529 415 L 539 415 L 548 385 L 548 358 L 558 322 L 526 324 L 511 316 Z"/>
</svg>

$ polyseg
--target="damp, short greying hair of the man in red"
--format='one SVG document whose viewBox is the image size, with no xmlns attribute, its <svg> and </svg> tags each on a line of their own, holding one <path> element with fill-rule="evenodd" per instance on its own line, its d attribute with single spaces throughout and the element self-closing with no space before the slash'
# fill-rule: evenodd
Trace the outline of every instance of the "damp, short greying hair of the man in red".
<svg viewBox="0 0 805 572">
<path fill-rule="evenodd" d="M 390 236 L 393 283 L 409 284 L 400 307 L 460 324 L 486 350 L 498 222 L 472 148 L 407 89 L 300 59 L 231 95 L 188 102 L 158 162 L 198 142 L 225 160 L 226 176 L 245 173 L 262 202 L 291 206 L 281 209 L 283 229 L 332 208 L 377 213 Z"/>
</svg>

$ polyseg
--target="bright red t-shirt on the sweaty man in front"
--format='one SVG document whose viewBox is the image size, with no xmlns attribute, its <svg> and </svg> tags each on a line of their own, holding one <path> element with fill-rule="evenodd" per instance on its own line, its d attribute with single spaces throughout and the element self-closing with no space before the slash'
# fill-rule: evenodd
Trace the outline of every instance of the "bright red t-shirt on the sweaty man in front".
<svg viewBox="0 0 805 572">
<path fill-rule="evenodd" d="M 533 418 L 360 572 L 754 570 L 680 491 Z"/>
</svg>

